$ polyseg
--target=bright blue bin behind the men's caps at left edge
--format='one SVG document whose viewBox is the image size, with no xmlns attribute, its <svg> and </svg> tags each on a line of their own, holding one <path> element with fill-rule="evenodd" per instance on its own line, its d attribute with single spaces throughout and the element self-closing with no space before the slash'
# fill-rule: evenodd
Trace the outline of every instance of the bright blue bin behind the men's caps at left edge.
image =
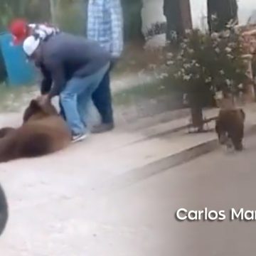
<svg viewBox="0 0 256 256">
<path fill-rule="evenodd" d="M 0 46 L 6 65 L 8 85 L 32 85 L 36 81 L 36 70 L 26 60 L 22 46 L 13 45 L 10 33 L 0 34 Z"/>
</svg>

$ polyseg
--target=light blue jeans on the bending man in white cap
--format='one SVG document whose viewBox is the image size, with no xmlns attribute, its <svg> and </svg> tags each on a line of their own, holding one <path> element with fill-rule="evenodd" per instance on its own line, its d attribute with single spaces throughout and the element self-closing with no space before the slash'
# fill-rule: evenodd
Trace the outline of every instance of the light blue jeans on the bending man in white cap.
<svg viewBox="0 0 256 256">
<path fill-rule="evenodd" d="M 96 73 L 85 78 L 72 78 L 68 81 L 65 89 L 60 92 L 60 104 L 73 135 L 88 132 L 86 124 L 88 103 L 109 68 L 110 64 L 108 63 Z"/>
</svg>

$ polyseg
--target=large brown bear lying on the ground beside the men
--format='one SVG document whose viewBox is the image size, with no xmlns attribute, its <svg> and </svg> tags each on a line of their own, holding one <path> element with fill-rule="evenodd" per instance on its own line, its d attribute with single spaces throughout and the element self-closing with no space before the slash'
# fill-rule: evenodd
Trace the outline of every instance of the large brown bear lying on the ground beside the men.
<svg viewBox="0 0 256 256">
<path fill-rule="evenodd" d="M 55 107 L 32 100 L 23 114 L 21 127 L 0 129 L 0 163 L 50 154 L 70 142 L 70 130 Z"/>
</svg>

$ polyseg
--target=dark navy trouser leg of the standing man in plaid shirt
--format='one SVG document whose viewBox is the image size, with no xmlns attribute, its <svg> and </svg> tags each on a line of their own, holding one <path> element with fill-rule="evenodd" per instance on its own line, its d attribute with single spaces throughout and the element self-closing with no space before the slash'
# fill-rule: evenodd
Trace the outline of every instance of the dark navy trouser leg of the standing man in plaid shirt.
<svg viewBox="0 0 256 256">
<path fill-rule="evenodd" d="M 93 133 L 107 132 L 114 128 L 114 117 L 112 110 L 112 95 L 110 90 L 110 70 L 107 71 L 95 92 L 92 94 L 92 101 L 97 107 L 102 118 L 102 124 L 94 127 Z"/>
</svg>

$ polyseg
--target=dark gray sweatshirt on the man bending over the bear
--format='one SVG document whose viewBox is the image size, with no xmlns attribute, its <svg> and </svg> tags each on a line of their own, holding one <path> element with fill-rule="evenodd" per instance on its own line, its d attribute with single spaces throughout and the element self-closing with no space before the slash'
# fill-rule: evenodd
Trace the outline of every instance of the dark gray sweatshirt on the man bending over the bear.
<svg viewBox="0 0 256 256">
<path fill-rule="evenodd" d="M 41 92 L 50 97 L 59 95 L 68 80 L 92 75 L 111 60 L 97 42 L 68 33 L 49 38 L 41 47 L 41 58 L 36 60 L 43 73 Z"/>
</svg>

